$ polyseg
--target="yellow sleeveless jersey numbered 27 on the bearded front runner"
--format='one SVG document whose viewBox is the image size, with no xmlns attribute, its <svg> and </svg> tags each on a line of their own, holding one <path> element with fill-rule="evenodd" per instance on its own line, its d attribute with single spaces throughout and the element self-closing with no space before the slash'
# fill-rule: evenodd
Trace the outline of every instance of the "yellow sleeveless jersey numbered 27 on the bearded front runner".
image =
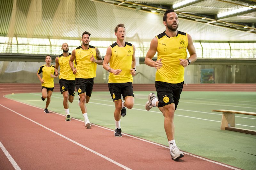
<svg viewBox="0 0 256 170">
<path fill-rule="evenodd" d="M 175 37 L 165 32 L 156 36 L 157 60 L 162 59 L 163 66 L 156 71 L 156 81 L 181 83 L 184 81 L 184 67 L 179 59 L 187 58 L 188 35 L 178 31 Z"/>
</svg>

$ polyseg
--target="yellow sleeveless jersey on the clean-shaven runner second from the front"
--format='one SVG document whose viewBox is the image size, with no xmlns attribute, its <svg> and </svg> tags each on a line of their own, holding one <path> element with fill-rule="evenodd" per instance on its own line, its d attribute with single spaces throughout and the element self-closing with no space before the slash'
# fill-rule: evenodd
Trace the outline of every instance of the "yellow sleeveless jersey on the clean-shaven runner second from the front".
<svg viewBox="0 0 256 170">
<path fill-rule="evenodd" d="M 133 46 L 131 43 L 125 42 L 124 47 L 119 47 L 117 43 L 111 45 L 111 59 L 109 65 L 112 69 L 121 69 L 119 75 L 109 73 L 108 83 L 128 83 L 132 82 L 132 54 Z"/>
</svg>

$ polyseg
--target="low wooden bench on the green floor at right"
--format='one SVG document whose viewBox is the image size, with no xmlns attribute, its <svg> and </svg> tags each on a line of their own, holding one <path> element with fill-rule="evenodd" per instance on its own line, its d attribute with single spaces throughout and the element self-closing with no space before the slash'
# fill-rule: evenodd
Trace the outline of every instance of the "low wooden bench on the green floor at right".
<svg viewBox="0 0 256 170">
<path fill-rule="evenodd" d="M 256 135 L 255 130 L 236 128 L 236 123 L 235 123 L 235 114 L 256 116 L 256 113 L 236 111 L 236 110 L 212 110 L 212 111 L 222 112 L 221 125 L 220 125 L 221 130 L 231 130 L 231 131 Z"/>
</svg>

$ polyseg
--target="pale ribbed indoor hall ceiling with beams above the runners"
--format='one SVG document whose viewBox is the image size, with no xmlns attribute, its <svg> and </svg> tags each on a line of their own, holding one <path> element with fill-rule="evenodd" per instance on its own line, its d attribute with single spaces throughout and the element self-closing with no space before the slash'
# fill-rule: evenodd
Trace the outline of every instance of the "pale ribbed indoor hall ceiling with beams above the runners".
<svg viewBox="0 0 256 170">
<path fill-rule="evenodd" d="M 150 41 L 165 30 L 163 12 L 177 2 L 180 1 L 0 0 L 0 35 L 79 40 L 84 31 L 89 31 L 92 39 L 115 40 L 115 26 L 124 23 L 129 41 Z M 254 8 L 216 18 L 219 12 L 255 4 L 255 0 L 195 0 L 174 8 L 179 15 L 178 30 L 198 41 L 255 41 Z M 151 12 L 160 7 L 159 13 Z"/>
</svg>

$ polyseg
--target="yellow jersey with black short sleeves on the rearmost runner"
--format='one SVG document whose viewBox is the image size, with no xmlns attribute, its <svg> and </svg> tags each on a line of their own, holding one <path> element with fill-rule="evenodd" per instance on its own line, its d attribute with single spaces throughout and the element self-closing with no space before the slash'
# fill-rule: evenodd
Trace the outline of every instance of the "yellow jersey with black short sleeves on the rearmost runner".
<svg viewBox="0 0 256 170">
<path fill-rule="evenodd" d="M 54 87 L 53 78 L 51 78 L 51 74 L 55 74 L 54 68 L 54 65 L 47 67 L 46 64 L 44 64 L 37 71 L 38 74 L 43 73 L 42 79 L 44 79 L 44 83 L 42 83 L 42 87 Z"/>
</svg>

